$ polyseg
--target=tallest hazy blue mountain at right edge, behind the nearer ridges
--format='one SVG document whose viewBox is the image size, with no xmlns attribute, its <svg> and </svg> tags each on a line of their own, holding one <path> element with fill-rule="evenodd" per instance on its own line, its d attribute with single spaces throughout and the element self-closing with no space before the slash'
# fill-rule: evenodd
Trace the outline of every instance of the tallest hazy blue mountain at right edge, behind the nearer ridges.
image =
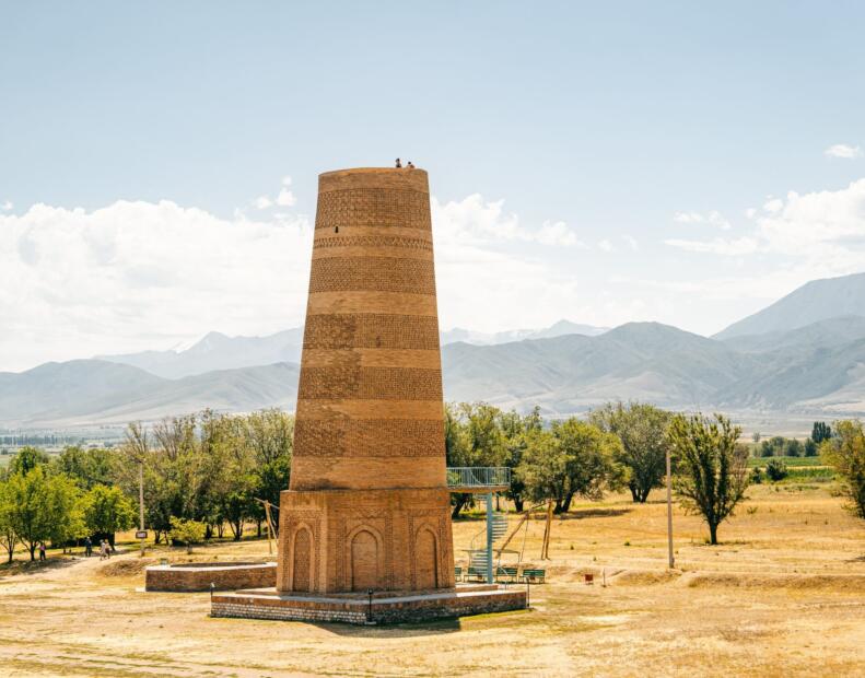
<svg viewBox="0 0 865 678">
<path fill-rule="evenodd" d="M 840 316 L 865 316 L 865 273 L 813 280 L 714 338 L 786 331 Z"/>
</svg>

